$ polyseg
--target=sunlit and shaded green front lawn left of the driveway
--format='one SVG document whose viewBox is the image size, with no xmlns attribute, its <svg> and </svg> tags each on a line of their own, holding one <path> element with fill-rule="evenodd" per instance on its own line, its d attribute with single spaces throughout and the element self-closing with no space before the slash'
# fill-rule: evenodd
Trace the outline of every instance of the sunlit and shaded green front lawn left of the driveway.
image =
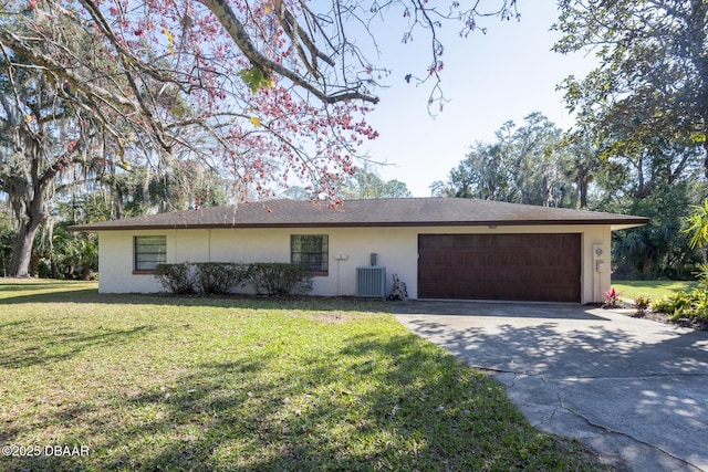
<svg viewBox="0 0 708 472">
<path fill-rule="evenodd" d="M 602 470 L 387 312 L 0 279 L 0 470 Z"/>
</svg>

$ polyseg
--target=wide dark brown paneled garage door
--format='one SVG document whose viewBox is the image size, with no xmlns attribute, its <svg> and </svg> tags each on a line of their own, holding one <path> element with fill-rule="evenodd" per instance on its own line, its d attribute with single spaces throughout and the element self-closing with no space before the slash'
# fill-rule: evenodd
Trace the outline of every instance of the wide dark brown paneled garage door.
<svg viewBox="0 0 708 472">
<path fill-rule="evenodd" d="M 419 234 L 418 297 L 580 302 L 580 234 Z"/>
</svg>

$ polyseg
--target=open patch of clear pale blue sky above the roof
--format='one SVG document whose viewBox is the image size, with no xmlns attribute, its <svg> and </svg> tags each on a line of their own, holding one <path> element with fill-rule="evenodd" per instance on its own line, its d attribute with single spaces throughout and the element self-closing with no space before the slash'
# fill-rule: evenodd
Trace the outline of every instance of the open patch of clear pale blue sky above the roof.
<svg viewBox="0 0 708 472">
<path fill-rule="evenodd" d="M 442 87 L 450 103 L 436 118 L 427 111 L 429 86 L 404 80 L 410 72 L 423 74 L 429 64 L 428 38 L 418 32 L 413 43 L 402 44 L 402 30 L 393 25 L 386 28 L 388 36 L 377 35 L 381 63 L 393 73 L 386 81 L 389 88 L 379 92 L 382 101 L 368 116 L 381 136 L 362 150 L 388 162 L 377 169 L 384 179 L 406 182 L 414 197 L 429 197 L 430 183 L 445 180 L 473 143 L 493 140 L 507 120 L 520 125 L 539 111 L 563 129 L 572 126 L 556 85 L 570 74 L 583 76 L 594 61 L 551 51 L 560 36 L 549 31 L 556 20 L 555 2 L 519 3 L 520 22 L 481 20 L 487 34 L 461 39 L 457 25 L 445 25 Z"/>
</svg>

